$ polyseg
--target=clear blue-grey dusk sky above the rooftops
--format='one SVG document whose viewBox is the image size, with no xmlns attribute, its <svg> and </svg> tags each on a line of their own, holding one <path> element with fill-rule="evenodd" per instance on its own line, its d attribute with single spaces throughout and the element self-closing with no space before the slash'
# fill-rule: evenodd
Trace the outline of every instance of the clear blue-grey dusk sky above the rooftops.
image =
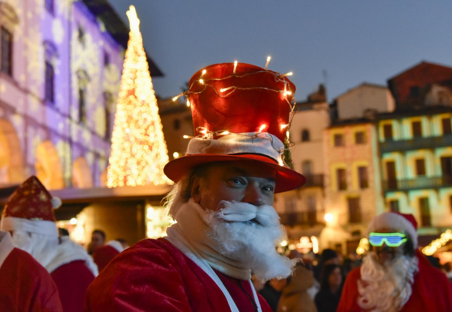
<svg viewBox="0 0 452 312">
<path fill-rule="evenodd" d="M 163 97 L 202 67 L 234 60 L 264 67 L 268 55 L 268 69 L 293 72 L 297 101 L 325 83 L 324 71 L 331 101 L 364 81 L 386 85 L 421 60 L 452 65 L 446 0 L 109 1 L 126 22 L 128 6 L 137 8 L 144 46 L 165 73 L 153 78 Z"/>
</svg>

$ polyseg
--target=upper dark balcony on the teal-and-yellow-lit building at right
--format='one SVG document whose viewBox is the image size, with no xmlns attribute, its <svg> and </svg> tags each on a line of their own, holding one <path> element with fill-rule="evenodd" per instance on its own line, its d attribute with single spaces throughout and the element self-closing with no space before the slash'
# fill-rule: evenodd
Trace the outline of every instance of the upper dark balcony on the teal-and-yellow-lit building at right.
<svg viewBox="0 0 452 312">
<path fill-rule="evenodd" d="M 446 146 L 452 146 L 452 134 L 441 137 L 419 137 L 410 140 L 380 142 L 380 151 L 381 153 L 388 153 L 392 151 L 412 151 Z"/>
</svg>

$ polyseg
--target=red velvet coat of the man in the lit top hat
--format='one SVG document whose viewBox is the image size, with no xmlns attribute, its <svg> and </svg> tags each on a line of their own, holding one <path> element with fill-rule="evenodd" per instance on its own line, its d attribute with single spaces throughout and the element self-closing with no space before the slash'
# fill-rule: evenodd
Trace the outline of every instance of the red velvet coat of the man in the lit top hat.
<svg viewBox="0 0 452 312">
<path fill-rule="evenodd" d="M 254 312 L 248 281 L 217 272 L 240 312 Z M 272 310 L 259 296 L 263 312 Z M 215 282 L 165 239 L 143 239 L 121 252 L 89 285 L 85 311 L 230 311 Z"/>
</svg>

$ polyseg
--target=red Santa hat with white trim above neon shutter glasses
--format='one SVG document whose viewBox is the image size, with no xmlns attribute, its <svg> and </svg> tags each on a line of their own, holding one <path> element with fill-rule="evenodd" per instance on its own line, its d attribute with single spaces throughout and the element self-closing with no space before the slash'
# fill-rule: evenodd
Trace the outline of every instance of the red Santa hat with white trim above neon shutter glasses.
<svg viewBox="0 0 452 312">
<path fill-rule="evenodd" d="M 418 247 L 418 223 L 411 214 L 399 212 L 385 212 L 373 218 L 367 229 L 368 233 L 375 232 L 379 229 L 395 229 L 401 231 L 408 236 L 413 242 L 414 248 Z"/>
</svg>

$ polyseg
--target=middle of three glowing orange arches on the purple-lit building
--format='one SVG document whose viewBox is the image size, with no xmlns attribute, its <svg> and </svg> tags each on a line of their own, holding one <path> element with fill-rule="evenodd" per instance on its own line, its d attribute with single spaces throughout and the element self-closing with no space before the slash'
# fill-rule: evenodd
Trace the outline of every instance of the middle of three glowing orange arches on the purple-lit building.
<svg viewBox="0 0 452 312">
<path fill-rule="evenodd" d="M 60 158 L 52 141 L 39 143 L 36 148 L 36 176 L 47 189 L 64 188 Z"/>
</svg>

